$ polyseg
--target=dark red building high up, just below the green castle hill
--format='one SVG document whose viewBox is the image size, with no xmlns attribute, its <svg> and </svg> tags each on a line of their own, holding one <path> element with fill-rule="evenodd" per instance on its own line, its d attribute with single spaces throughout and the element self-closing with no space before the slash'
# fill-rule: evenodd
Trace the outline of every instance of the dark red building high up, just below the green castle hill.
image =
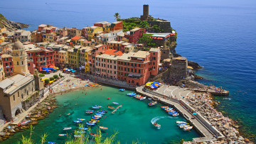
<svg viewBox="0 0 256 144">
<path fill-rule="evenodd" d="M 146 30 L 143 28 L 134 28 L 124 35 L 124 38 L 129 40 L 129 43 L 137 43 L 139 38 L 142 38 L 143 33 L 146 33 Z"/>
</svg>

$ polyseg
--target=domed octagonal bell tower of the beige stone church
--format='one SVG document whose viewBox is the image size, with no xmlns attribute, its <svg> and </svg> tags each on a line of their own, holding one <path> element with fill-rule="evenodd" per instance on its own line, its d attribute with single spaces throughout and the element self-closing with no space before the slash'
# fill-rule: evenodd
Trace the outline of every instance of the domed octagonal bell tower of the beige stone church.
<svg viewBox="0 0 256 144">
<path fill-rule="evenodd" d="M 27 62 L 28 55 L 20 41 L 17 40 L 14 43 L 11 55 L 14 60 L 14 74 L 22 74 L 24 76 L 30 74 Z"/>
</svg>

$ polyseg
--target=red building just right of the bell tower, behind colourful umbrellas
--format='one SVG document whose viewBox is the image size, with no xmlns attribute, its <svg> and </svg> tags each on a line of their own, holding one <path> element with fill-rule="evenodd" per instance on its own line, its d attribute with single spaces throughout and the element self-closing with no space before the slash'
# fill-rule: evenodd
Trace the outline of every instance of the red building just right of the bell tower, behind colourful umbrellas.
<svg viewBox="0 0 256 144">
<path fill-rule="evenodd" d="M 50 65 L 55 65 L 54 62 L 54 51 L 46 50 L 45 48 L 33 48 L 26 51 L 28 54 L 28 59 L 33 60 L 35 68 L 41 71 L 43 67 L 49 67 Z"/>
</svg>

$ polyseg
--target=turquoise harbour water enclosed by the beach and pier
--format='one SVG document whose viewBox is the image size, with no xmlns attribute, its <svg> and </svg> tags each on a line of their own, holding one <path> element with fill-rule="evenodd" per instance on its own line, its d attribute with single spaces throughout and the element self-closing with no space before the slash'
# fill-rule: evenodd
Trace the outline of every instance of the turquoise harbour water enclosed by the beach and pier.
<svg viewBox="0 0 256 144">
<path fill-rule="evenodd" d="M 48 118 L 39 121 L 34 129 L 34 138 L 38 142 L 40 135 L 48 133 L 48 140 L 54 142 L 64 142 L 65 138 L 58 137 L 58 134 L 65 133 L 63 128 L 78 126 L 73 123 L 76 118 L 85 118 L 89 120 L 91 115 L 85 113 L 86 109 L 91 106 L 101 105 L 107 107 L 113 101 L 122 104 L 117 112 L 110 113 L 111 110 L 105 109 L 108 113 L 100 119 L 100 126 L 109 128 L 103 133 L 103 136 L 112 135 L 114 131 L 118 131 L 117 140 L 121 143 L 132 143 L 132 141 L 139 141 L 140 143 L 178 143 L 181 139 L 192 140 L 199 135 L 196 131 L 183 131 L 176 126 L 176 121 L 185 121 L 181 116 L 172 117 L 163 111 L 160 106 L 149 107 L 147 104 L 149 100 L 139 101 L 130 96 L 126 96 L 130 91 L 119 92 L 119 89 L 113 87 L 102 87 L 90 90 L 85 90 L 87 95 L 82 92 L 71 92 L 57 96 L 59 107 L 50 113 Z M 107 100 L 110 97 L 110 100 Z M 70 116 L 67 116 L 71 113 Z M 62 116 L 59 117 L 59 115 Z M 151 124 L 153 118 L 160 118 L 157 123 L 161 124 L 161 129 L 156 129 Z M 97 126 L 92 126 L 92 132 L 96 132 Z M 68 131 L 73 133 L 73 131 Z M 9 140 L 3 143 L 16 143 L 21 138 L 21 135 L 28 135 L 28 131 L 16 133 Z"/>
</svg>

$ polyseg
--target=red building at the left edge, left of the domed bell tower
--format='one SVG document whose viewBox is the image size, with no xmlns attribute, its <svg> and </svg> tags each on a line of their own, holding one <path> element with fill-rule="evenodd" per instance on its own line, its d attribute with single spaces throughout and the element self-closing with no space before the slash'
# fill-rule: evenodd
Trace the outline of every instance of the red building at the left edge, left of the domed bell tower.
<svg viewBox="0 0 256 144">
<path fill-rule="evenodd" d="M 14 62 L 11 55 L 1 55 L 1 60 L 3 61 L 3 68 L 6 77 L 14 74 Z"/>
</svg>

